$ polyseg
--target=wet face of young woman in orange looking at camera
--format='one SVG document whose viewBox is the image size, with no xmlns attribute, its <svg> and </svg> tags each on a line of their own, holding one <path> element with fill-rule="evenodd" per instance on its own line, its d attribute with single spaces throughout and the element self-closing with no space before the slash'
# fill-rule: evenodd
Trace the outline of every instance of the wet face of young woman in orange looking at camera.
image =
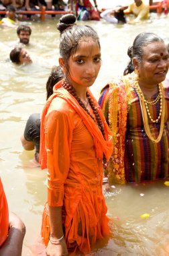
<svg viewBox="0 0 169 256">
<path fill-rule="evenodd" d="M 76 53 L 68 60 L 68 79 L 74 88 L 92 86 L 101 67 L 101 51 L 93 38 L 78 43 Z"/>
</svg>

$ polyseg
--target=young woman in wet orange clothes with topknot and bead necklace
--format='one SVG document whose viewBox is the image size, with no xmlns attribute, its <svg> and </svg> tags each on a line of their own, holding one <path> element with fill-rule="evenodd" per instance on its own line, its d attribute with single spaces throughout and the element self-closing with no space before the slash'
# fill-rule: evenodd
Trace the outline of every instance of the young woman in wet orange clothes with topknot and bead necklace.
<svg viewBox="0 0 169 256">
<path fill-rule="evenodd" d="M 101 67 L 101 47 L 97 32 L 75 21 L 72 14 L 60 18 L 64 79 L 42 113 L 40 162 L 48 168 L 42 237 L 52 256 L 76 249 L 88 253 L 109 234 L 102 182 L 111 132 L 89 90 Z"/>
</svg>

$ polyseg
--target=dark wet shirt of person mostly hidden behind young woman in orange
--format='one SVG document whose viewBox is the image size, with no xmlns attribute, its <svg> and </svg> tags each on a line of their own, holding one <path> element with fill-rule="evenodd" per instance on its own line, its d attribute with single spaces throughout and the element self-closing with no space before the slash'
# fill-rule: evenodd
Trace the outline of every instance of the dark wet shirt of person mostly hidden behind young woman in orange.
<svg viewBox="0 0 169 256">
<path fill-rule="evenodd" d="M 30 115 L 25 125 L 24 137 L 27 141 L 33 141 L 35 145 L 35 158 L 39 162 L 40 152 L 40 113 Z"/>
</svg>

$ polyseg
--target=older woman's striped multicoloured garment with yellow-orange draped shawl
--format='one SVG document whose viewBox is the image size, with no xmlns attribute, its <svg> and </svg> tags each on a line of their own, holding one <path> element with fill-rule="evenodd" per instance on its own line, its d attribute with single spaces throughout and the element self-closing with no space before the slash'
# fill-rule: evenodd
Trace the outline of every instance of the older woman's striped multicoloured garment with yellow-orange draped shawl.
<svg viewBox="0 0 169 256">
<path fill-rule="evenodd" d="M 158 94 L 152 96 L 151 101 Z M 109 179 L 118 183 L 153 181 L 169 176 L 169 87 L 164 86 L 165 121 L 159 143 L 152 142 L 144 129 L 139 97 L 133 87 L 132 74 L 109 83 L 101 92 L 99 104 L 113 133 L 113 155 L 108 168 Z M 157 119 L 160 100 L 148 105 Z M 149 120 L 153 137 L 158 137 L 160 121 Z"/>
</svg>

